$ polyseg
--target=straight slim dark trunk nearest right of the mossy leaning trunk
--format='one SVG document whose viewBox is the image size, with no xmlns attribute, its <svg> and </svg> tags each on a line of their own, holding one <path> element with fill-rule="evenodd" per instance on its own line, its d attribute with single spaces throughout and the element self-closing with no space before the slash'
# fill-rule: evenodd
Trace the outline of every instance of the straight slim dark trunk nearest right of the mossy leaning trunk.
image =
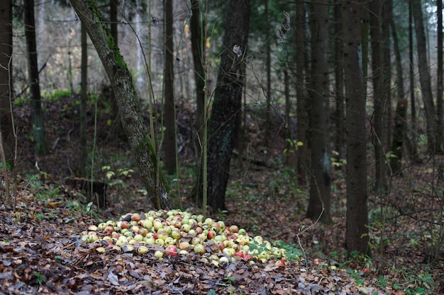
<svg viewBox="0 0 444 295">
<path fill-rule="evenodd" d="M 174 107 L 174 48 L 173 48 L 173 14 L 172 1 L 164 1 L 165 8 L 165 73 L 163 83 L 165 87 L 165 138 L 163 142 L 165 169 L 167 173 L 176 172 L 176 115 Z"/>
</svg>

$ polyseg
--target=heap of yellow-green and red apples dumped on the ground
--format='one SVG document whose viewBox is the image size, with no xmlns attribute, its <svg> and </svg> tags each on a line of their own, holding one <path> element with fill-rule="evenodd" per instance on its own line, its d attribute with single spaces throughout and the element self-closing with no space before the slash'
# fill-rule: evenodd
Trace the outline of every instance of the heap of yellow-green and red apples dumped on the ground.
<svg viewBox="0 0 444 295">
<path fill-rule="evenodd" d="M 91 225 L 84 231 L 82 241 L 104 241 L 118 252 L 154 251 L 156 258 L 203 255 L 214 265 L 236 260 L 254 262 L 253 258 L 261 262 L 272 260 L 277 266 L 287 261 L 285 249 L 272 246 L 261 236 L 250 237 L 238 226 L 226 226 L 223 221 L 178 209 L 128 213 L 117 222 Z M 100 246 L 96 251 L 105 253 L 106 248 Z"/>
</svg>

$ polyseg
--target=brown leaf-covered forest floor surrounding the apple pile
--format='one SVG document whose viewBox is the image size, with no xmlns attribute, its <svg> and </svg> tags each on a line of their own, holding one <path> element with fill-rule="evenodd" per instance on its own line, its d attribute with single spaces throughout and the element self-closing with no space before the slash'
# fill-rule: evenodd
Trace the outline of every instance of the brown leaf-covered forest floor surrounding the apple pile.
<svg viewBox="0 0 444 295">
<path fill-rule="evenodd" d="M 136 169 L 128 146 L 113 139 L 105 112 L 97 116 L 95 173 L 108 184 L 106 210 L 88 205 L 84 191 L 66 184 L 82 168 L 76 108 L 72 98 L 44 105 L 57 115 L 46 120 L 51 154 L 39 160 L 38 168 L 31 156 L 29 110 L 18 108 L 18 142 L 23 144 L 18 180 L 11 186 L 17 189 L 16 210 L 0 207 L 0 294 L 444 294 L 443 190 L 435 162 L 391 178 L 389 197 L 370 194 L 372 258 L 348 257 L 343 172 L 336 171 L 333 180 L 333 224 L 305 219 L 308 190 L 296 185 L 292 156 L 284 156 L 285 141 L 274 140 L 265 149 L 254 114 L 247 120 L 245 154 L 255 161 L 240 163 L 233 157 L 228 210 L 211 217 L 286 248 L 286 265 L 253 259 L 216 266 L 201 255 L 158 259 L 154 251 L 98 253 L 101 244 L 82 242 L 90 225 L 151 208 L 137 172 L 130 170 Z M 181 105 L 178 138 L 184 161 L 177 192 L 184 210 L 199 214 L 189 201 L 194 179 L 191 114 L 191 108 Z M 108 179 L 110 171 L 114 175 Z M 4 196 L 4 175 L 1 180 Z"/>
</svg>

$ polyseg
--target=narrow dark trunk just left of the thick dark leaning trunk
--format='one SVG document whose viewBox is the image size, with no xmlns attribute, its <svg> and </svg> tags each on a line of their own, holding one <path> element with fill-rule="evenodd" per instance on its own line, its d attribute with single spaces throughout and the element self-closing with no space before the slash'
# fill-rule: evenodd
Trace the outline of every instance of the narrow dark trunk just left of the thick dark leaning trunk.
<svg viewBox="0 0 444 295">
<path fill-rule="evenodd" d="M 192 54 L 194 63 L 194 83 L 196 83 L 196 154 L 201 158 L 202 141 L 204 140 L 205 100 L 205 44 L 206 21 L 201 21 L 199 0 L 191 0 L 192 18 L 190 30 L 192 35 Z"/>
</svg>

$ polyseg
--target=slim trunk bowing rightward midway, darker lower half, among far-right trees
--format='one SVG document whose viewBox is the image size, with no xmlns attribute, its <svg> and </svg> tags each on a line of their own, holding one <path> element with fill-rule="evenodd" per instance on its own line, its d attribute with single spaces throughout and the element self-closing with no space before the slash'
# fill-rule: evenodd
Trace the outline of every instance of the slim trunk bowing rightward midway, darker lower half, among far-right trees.
<svg viewBox="0 0 444 295">
<path fill-rule="evenodd" d="M 393 47 L 396 62 L 396 112 L 394 116 L 394 130 L 392 139 L 392 153 L 393 157 L 390 158 L 390 166 L 392 167 L 392 173 L 401 172 L 401 163 L 404 154 L 404 141 L 406 140 L 406 127 L 407 127 L 407 99 L 405 98 L 404 91 L 404 78 L 402 73 L 402 61 L 401 51 L 399 50 L 398 34 L 396 33 L 396 27 L 393 19 L 393 1 L 388 0 L 387 3 L 390 6 L 390 30 L 392 32 Z"/>
</svg>

